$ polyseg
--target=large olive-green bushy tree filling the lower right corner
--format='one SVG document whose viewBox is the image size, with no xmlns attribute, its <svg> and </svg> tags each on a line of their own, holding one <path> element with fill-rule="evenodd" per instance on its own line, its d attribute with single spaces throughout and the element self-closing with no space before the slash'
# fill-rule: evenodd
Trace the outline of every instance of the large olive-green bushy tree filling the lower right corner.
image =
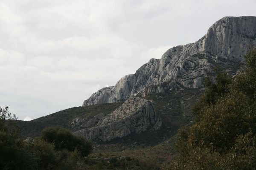
<svg viewBox="0 0 256 170">
<path fill-rule="evenodd" d="M 256 167 L 256 49 L 243 73 L 218 72 L 193 108 L 196 121 L 178 135 L 178 170 L 251 170 Z"/>
</svg>

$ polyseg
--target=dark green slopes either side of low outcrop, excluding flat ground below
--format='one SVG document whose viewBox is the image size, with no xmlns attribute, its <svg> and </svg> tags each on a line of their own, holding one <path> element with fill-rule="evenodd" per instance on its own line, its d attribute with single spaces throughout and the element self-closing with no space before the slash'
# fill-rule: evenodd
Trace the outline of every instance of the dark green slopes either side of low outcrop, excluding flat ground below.
<svg viewBox="0 0 256 170">
<path fill-rule="evenodd" d="M 122 139 L 116 139 L 110 143 L 134 143 L 151 145 L 164 141 L 170 136 L 176 134 L 177 130 L 193 118 L 190 114 L 190 107 L 199 98 L 202 91 L 198 89 L 185 88 L 180 91 L 170 91 L 166 94 L 154 94 L 146 96 L 145 99 L 151 100 L 156 112 L 160 115 L 163 125 L 160 130 L 155 132 L 149 131 L 141 134 L 133 133 Z M 87 107 L 74 107 L 52 113 L 32 121 L 18 121 L 23 137 L 38 136 L 45 127 L 61 126 L 71 131 L 73 129 L 70 123 L 77 117 L 93 117 L 99 113 L 109 114 L 118 108 L 122 102 L 91 105 Z"/>
</svg>

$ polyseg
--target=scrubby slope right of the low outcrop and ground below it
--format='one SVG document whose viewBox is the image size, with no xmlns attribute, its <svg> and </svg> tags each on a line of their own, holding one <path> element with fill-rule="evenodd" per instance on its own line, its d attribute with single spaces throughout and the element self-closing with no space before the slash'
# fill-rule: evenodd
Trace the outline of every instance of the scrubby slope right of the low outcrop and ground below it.
<svg viewBox="0 0 256 170">
<path fill-rule="evenodd" d="M 148 166 L 143 165 L 146 170 L 158 170 L 163 164 L 169 164 L 176 155 L 177 131 L 183 125 L 192 123 L 194 118 L 191 107 L 198 101 L 200 94 L 202 91 L 199 89 L 184 88 L 146 96 L 146 99 L 153 102 L 156 112 L 162 119 L 161 129 L 97 143 L 88 158 L 104 160 L 125 156 L 139 160 L 140 164 L 147 164 Z"/>
</svg>

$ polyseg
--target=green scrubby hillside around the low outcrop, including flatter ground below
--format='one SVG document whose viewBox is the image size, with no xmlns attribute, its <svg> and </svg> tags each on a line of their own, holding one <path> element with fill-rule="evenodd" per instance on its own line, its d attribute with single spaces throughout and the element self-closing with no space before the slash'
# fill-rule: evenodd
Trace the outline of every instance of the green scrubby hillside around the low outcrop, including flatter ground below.
<svg viewBox="0 0 256 170">
<path fill-rule="evenodd" d="M 177 91 L 169 91 L 164 94 L 152 94 L 145 96 L 150 100 L 162 119 L 162 127 L 157 131 L 145 131 L 140 134 L 132 133 L 122 138 L 116 138 L 110 142 L 93 143 L 93 153 L 89 160 L 93 164 L 106 164 L 105 158 L 126 158 L 151 162 L 156 167 L 169 163 L 176 155 L 175 142 L 177 131 L 183 125 L 191 124 L 193 116 L 191 107 L 198 101 L 204 90 L 184 88 Z M 40 135 L 42 129 L 48 126 L 60 125 L 71 131 L 76 131 L 70 126 L 70 122 L 80 116 L 93 117 L 98 113 L 111 113 L 122 103 L 110 103 L 91 105 L 87 107 L 74 107 L 44 116 L 32 121 L 19 121 L 23 137 Z M 107 166 L 107 165 L 106 165 Z"/>
</svg>

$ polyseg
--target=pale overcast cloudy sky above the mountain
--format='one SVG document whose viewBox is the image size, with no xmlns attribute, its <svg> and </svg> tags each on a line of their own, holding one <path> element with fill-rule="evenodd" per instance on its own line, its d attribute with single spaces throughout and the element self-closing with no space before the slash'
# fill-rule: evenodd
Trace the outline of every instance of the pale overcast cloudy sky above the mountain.
<svg viewBox="0 0 256 170">
<path fill-rule="evenodd" d="M 255 0 L 0 0 L 0 106 L 30 120 L 75 106 Z"/>
</svg>

